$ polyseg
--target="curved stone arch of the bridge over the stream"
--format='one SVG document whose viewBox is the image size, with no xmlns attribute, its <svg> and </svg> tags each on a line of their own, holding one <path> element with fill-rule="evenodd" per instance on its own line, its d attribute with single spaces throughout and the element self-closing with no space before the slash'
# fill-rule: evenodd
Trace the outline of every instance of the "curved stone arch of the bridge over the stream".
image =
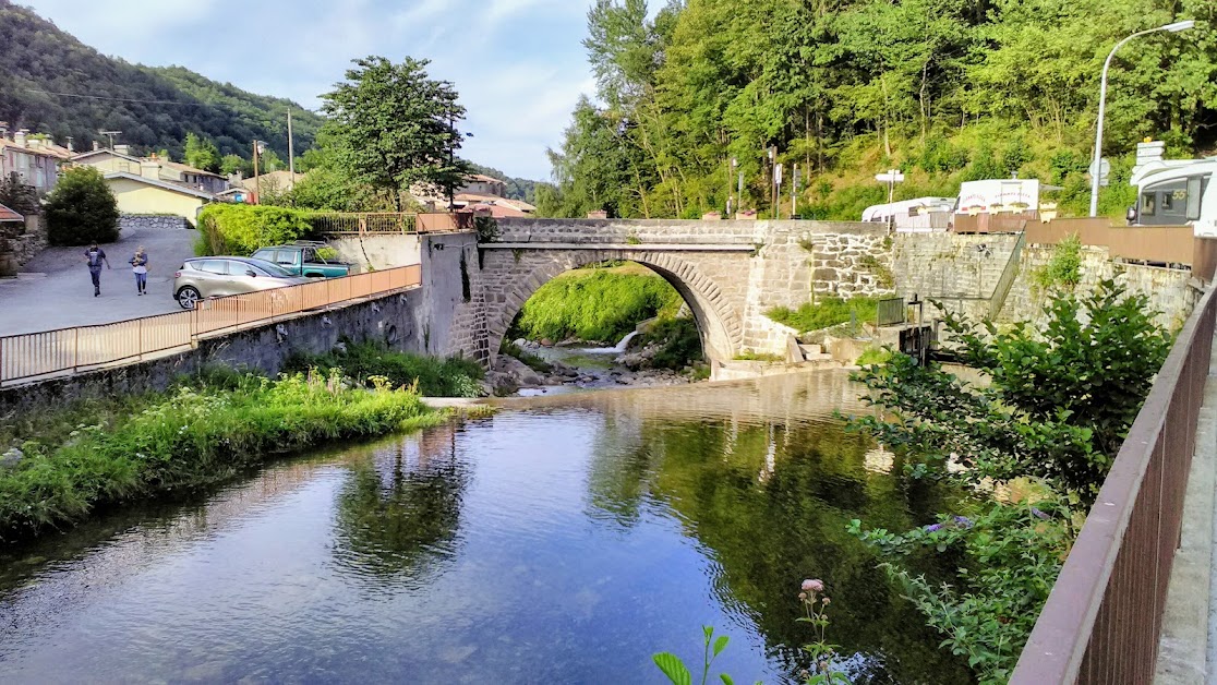
<svg viewBox="0 0 1217 685">
<path fill-rule="evenodd" d="M 718 283 L 706 276 L 696 264 L 682 259 L 674 253 L 647 252 L 633 249 L 577 249 L 577 251 L 538 251 L 549 253 L 539 264 L 523 264 L 516 256 L 511 268 L 511 281 L 507 296 L 498 311 L 488 311 L 488 332 L 490 355 L 498 355 L 503 338 L 525 303 L 543 285 L 556 276 L 589 264 L 611 260 L 636 262 L 660 275 L 680 293 L 680 297 L 692 311 L 701 335 L 702 349 L 712 360 L 728 360 L 744 347 L 742 318 L 724 296 Z M 507 259 L 512 259 L 507 256 Z M 531 260 L 529 260 L 531 262 Z M 741 274 L 742 277 L 747 277 Z"/>
</svg>

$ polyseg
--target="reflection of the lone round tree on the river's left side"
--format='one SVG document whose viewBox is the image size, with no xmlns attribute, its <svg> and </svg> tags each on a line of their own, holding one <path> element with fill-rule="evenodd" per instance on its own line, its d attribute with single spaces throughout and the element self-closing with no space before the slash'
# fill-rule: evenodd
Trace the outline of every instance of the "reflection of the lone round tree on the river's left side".
<svg viewBox="0 0 1217 685">
<path fill-rule="evenodd" d="M 454 440 L 450 427 L 428 429 L 352 462 L 335 515 L 340 568 L 377 584 L 413 584 L 452 558 L 470 482 Z"/>
</svg>

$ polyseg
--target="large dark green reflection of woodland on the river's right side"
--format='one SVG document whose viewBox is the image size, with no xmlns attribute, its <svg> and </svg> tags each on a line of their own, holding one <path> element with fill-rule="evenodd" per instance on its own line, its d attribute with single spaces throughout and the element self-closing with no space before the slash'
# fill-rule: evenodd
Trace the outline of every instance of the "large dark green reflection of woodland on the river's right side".
<svg viewBox="0 0 1217 685">
<path fill-rule="evenodd" d="M 818 577 L 832 596 L 830 641 L 853 655 L 856 681 L 969 680 L 846 532 L 851 518 L 907 529 L 949 510 L 948 493 L 899 476 L 898 456 L 893 475 L 875 473 L 874 443 L 835 422 L 618 414 L 604 433 L 611 447 L 593 460 L 591 507 L 624 526 L 647 499 L 675 511 L 717 562 L 719 601 L 755 622 L 791 673 L 807 666 L 798 645 L 811 639 L 796 622 L 798 584 Z"/>
</svg>

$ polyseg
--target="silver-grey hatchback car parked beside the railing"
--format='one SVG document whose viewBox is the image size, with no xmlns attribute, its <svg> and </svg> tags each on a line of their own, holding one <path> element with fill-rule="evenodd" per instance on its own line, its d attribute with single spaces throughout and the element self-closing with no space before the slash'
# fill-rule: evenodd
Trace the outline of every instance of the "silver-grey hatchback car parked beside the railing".
<svg viewBox="0 0 1217 685">
<path fill-rule="evenodd" d="M 198 257 L 186 259 L 173 275 L 173 293 L 183 309 L 200 299 L 282 288 L 312 282 L 286 269 L 249 257 Z"/>
</svg>

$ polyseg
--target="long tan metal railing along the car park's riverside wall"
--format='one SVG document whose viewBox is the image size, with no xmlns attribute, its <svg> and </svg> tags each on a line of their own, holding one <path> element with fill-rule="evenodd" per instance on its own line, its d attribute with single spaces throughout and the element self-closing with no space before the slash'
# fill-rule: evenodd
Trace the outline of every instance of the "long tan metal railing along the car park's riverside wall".
<svg viewBox="0 0 1217 685">
<path fill-rule="evenodd" d="M 142 361 L 200 338 L 285 316 L 417 286 L 422 268 L 400 266 L 342 279 L 206 299 L 194 310 L 116 324 L 0 337 L 0 387 L 43 377 Z"/>
</svg>

